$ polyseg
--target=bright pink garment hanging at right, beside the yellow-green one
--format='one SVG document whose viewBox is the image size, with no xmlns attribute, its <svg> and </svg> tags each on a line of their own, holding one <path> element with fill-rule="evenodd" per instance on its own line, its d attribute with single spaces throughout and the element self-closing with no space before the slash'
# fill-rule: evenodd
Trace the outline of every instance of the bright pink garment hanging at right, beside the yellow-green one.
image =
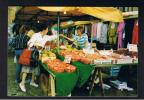
<svg viewBox="0 0 144 100">
<path fill-rule="evenodd" d="M 124 32 L 125 23 L 120 22 L 117 28 L 118 34 L 118 48 L 122 48 L 123 32 Z"/>
</svg>

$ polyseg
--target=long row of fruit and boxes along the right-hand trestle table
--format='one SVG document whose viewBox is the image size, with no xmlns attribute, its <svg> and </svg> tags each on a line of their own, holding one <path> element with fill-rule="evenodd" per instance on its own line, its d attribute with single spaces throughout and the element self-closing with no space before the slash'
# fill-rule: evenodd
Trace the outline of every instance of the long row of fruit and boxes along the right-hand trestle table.
<svg viewBox="0 0 144 100">
<path fill-rule="evenodd" d="M 124 49 L 126 51 L 126 49 Z M 120 54 L 113 52 L 112 50 L 99 50 L 94 52 L 94 54 L 86 54 L 82 50 L 61 50 L 60 55 L 66 56 L 69 55 L 72 58 L 72 61 L 80 61 L 84 64 L 93 64 L 95 62 L 100 62 L 101 64 L 115 64 L 117 62 L 126 63 L 131 62 L 133 56 L 137 57 L 137 53 L 128 52 L 127 55 L 121 54 L 123 51 L 120 50 Z M 126 51 L 127 52 L 127 51 Z"/>
</svg>

